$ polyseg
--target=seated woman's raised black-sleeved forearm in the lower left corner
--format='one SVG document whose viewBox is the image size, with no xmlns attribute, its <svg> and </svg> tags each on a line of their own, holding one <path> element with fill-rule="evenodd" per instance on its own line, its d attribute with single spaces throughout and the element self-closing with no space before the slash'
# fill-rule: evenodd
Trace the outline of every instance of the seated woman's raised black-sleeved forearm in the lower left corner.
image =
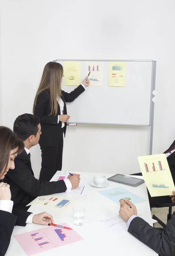
<svg viewBox="0 0 175 256">
<path fill-rule="evenodd" d="M 10 212 L 0 210 L 0 256 L 6 254 L 16 219 Z"/>
</svg>

